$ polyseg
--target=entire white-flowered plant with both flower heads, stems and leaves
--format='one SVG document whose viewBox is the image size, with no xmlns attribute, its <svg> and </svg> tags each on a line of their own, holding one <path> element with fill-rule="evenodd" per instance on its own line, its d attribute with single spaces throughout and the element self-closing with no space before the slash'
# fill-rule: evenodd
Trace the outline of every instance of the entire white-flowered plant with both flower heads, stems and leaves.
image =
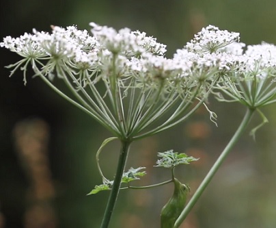
<svg viewBox="0 0 276 228">
<path fill-rule="evenodd" d="M 186 207 L 188 187 L 174 177 L 174 167 L 196 159 L 172 151 L 159 153 L 162 159 L 158 160 L 157 166 L 171 168 L 172 177 L 152 186 L 175 183 L 173 197 L 183 199 L 182 205 L 175 207 L 175 200 L 167 204 L 168 210 L 177 208 L 177 214 L 168 218 L 169 223 L 166 223 L 167 218 L 163 219 L 163 226 L 179 227 L 240 138 L 253 112 L 260 112 L 260 107 L 275 101 L 275 46 L 249 46 L 244 53 L 245 44 L 239 42 L 238 33 L 209 25 L 178 49 L 173 58 L 166 58 L 166 46 L 144 32 L 128 28 L 116 31 L 96 23 L 90 25 L 91 35 L 76 26 L 51 26 L 51 33 L 33 29 L 32 34 L 25 33 L 18 38 L 7 36 L 0 46 L 22 57 L 8 66 L 10 75 L 17 70 L 23 71 L 23 81 L 27 84 L 30 65 L 33 77 L 42 79 L 113 135 L 102 142 L 96 153 L 102 183 L 89 192 L 111 191 L 101 228 L 109 226 L 119 191 L 140 188 L 130 186 L 129 182 L 146 174 L 144 167 L 124 171 L 133 141 L 187 120 L 200 105 L 206 106 L 210 94 L 215 94 L 219 101 L 238 101 L 248 107 L 232 140 Z M 57 81 L 63 81 L 69 91 L 59 88 Z M 217 115 L 207 106 L 206 109 L 215 123 Z M 105 177 L 99 162 L 99 154 L 111 140 L 120 140 L 122 144 L 113 180 Z M 185 196 L 178 194 L 180 189 Z M 165 210 L 166 216 L 171 214 L 168 210 Z"/>
</svg>

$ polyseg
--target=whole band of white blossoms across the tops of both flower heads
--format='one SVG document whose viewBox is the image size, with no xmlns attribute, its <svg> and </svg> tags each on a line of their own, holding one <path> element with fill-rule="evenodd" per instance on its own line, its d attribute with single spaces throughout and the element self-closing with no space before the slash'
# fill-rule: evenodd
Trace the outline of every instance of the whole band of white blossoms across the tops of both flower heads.
<svg viewBox="0 0 276 228">
<path fill-rule="evenodd" d="M 266 68 L 276 66 L 275 45 L 262 43 L 248 46 L 244 51 L 245 44 L 238 42 L 238 33 L 223 31 L 213 25 L 199 31 L 183 49 L 176 51 L 173 59 L 164 57 L 165 45 L 144 32 L 128 28 L 116 31 L 96 23 L 90 25 L 93 36 L 75 26 L 66 29 L 52 26 L 51 34 L 33 29 L 33 34 L 4 38 L 0 46 L 25 58 L 25 62 L 14 64 L 14 68 L 29 60 L 32 64 L 48 60 L 45 66 L 40 66 L 44 75 L 50 75 L 58 64 L 77 71 L 87 69 L 91 75 L 97 73 L 100 77 L 134 75 L 139 81 L 151 81 L 151 84 L 160 79 L 212 81 L 216 75 L 230 73 L 264 76 Z"/>
</svg>

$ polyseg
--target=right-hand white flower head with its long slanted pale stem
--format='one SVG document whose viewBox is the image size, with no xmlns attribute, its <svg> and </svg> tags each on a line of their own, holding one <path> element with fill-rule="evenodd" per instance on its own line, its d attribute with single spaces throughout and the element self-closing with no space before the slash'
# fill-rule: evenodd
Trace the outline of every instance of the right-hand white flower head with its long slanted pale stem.
<svg viewBox="0 0 276 228">
<path fill-rule="evenodd" d="M 218 101 L 238 102 L 244 105 L 247 111 L 231 140 L 225 149 L 223 149 L 215 164 L 212 165 L 212 168 L 210 168 L 187 206 L 184 207 L 184 210 L 178 216 L 176 223 L 174 223 L 174 228 L 179 227 L 189 212 L 191 212 L 191 209 L 212 180 L 212 177 L 214 177 L 227 155 L 240 139 L 243 131 L 247 128 L 253 114 L 258 112 L 262 118 L 262 123 L 251 130 L 251 136 L 255 138 L 256 131 L 268 122 L 261 108 L 276 101 L 275 45 L 262 42 L 260 45 L 249 45 L 247 49 L 244 49 L 246 45 L 242 42 L 219 45 L 219 42 L 213 41 L 217 40 L 214 34 L 205 31 L 205 29 L 202 29 L 201 32 L 195 35 L 195 38 L 189 43 L 189 48 L 196 53 L 201 52 L 204 55 L 213 53 L 221 56 L 222 59 L 225 57 L 228 59 L 227 61 L 233 63 L 233 65 L 225 65 L 230 71 L 227 71 L 227 74 L 223 71 L 221 72 L 221 80 L 217 82 L 214 90 L 212 90 L 213 94 L 215 94 Z M 219 31 L 219 33 L 221 32 Z M 206 42 L 206 40 L 211 40 L 211 44 L 210 42 Z M 209 51 L 206 51 L 208 49 L 206 47 L 210 47 Z M 229 58 L 232 60 L 229 60 Z"/>
</svg>

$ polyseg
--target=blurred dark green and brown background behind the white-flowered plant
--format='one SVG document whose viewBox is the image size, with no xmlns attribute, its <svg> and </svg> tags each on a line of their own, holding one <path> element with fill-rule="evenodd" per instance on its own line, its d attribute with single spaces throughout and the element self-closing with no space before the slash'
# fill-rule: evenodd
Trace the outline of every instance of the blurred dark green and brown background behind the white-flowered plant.
<svg viewBox="0 0 276 228">
<path fill-rule="evenodd" d="M 51 31 L 50 25 L 89 29 L 94 21 L 146 31 L 167 45 L 171 57 L 209 24 L 240 32 L 248 45 L 276 43 L 275 9 L 275 0 L 1 0 L 0 37 L 33 28 Z M 86 194 L 101 181 L 95 153 L 111 135 L 38 78 L 31 79 L 31 71 L 27 86 L 19 71 L 9 78 L 4 66 L 19 58 L 3 48 L 0 55 L 0 228 L 100 227 L 109 192 Z M 201 157 L 176 170 L 193 194 L 245 113 L 238 104 L 213 99 L 209 106 L 219 127 L 202 108 L 188 122 L 133 144 L 128 168 L 146 166 L 148 172 L 135 184 L 165 181 L 167 170 L 152 166 L 158 151 L 174 149 Z M 245 132 L 182 227 L 276 227 L 276 107 L 263 111 L 269 124 L 255 141 L 250 128 Z M 260 121 L 254 116 L 250 127 Z M 110 179 L 119 149 L 112 142 L 100 157 Z M 172 187 L 122 191 L 110 227 L 159 227 Z"/>
</svg>

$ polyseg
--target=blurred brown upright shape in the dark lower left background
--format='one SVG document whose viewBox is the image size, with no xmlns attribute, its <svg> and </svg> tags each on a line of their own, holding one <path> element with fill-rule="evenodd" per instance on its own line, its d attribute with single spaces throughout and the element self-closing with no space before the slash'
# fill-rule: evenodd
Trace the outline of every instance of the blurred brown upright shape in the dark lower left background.
<svg viewBox="0 0 276 228">
<path fill-rule="evenodd" d="M 49 125 L 41 119 L 29 119 L 14 127 L 16 153 L 27 179 L 25 228 L 55 228 L 57 222 L 52 201 L 55 188 L 48 157 Z"/>
</svg>

